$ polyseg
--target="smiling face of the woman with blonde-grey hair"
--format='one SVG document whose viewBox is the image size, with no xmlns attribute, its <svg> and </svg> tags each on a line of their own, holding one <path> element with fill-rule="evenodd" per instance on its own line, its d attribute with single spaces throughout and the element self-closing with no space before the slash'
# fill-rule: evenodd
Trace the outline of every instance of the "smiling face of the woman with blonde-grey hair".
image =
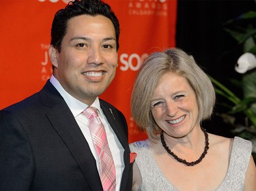
<svg viewBox="0 0 256 191">
<path fill-rule="evenodd" d="M 156 124 L 171 137 L 184 137 L 199 126 L 197 98 L 185 77 L 162 75 L 151 99 Z"/>
</svg>

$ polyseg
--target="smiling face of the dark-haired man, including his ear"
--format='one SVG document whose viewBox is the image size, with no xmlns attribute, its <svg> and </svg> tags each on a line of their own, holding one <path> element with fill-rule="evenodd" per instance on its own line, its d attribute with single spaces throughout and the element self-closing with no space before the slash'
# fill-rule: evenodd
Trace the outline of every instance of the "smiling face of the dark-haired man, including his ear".
<svg viewBox="0 0 256 191">
<path fill-rule="evenodd" d="M 71 18 L 61 51 L 51 47 L 50 56 L 61 86 L 91 105 L 115 77 L 118 57 L 113 23 L 101 15 Z"/>
</svg>

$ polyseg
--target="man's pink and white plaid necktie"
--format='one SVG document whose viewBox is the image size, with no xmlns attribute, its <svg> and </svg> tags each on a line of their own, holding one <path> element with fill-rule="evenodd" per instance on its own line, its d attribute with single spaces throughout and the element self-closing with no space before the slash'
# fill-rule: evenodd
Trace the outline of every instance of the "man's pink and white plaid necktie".
<svg viewBox="0 0 256 191">
<path fill-rule="evenodd" d="M 106 131 L 98 117 L 97 109 L 87 107 L 83 114 L 89 119 L 89 130 L 100 160 L 100 180 L 103 190 L 115 190 L 115 164 L 106 139 Z"/>
</svg>

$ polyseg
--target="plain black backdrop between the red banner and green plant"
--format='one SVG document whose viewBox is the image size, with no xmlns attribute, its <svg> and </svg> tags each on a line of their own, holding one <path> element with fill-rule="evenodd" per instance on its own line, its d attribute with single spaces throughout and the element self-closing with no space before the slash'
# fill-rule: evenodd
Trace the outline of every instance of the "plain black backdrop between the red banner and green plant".
<svg viewBox="0 0 256 191">
<path fill-rule="evenodd" d="M 255 1 L 183 1 L 177 0 L 176 46 L 192 54 L 201 68 L 230 88 L 229 79 L 240 79 L 234 70 L 236 61 L 243 54 L 238 42 L 224 31 L 223 24 L 250 10 L 256 10 Z M 236 92 L 242 96 L 242 92 Z M 217 96 L 214 112 L 223 109 Z M 228 126 L 218 118 L 203 122 L 208 132 L 233 137 Z"/>
</svg>

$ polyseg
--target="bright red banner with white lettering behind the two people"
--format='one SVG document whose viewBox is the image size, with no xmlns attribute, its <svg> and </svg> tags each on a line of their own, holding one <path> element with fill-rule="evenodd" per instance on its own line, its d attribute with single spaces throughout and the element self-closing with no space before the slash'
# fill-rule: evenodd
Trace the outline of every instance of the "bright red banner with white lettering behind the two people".
<svg viewBox="0 0 256 191">
<path fill-rule="evenodd" d="M 121 110 L 129 142 L 145 139 L 130 117 L 134 77 L 143 60 L 175 46 L 177 0 L 105 0 L 120 22 L 119 63 L 115 80 L 100 96 Z M 1 1 L 0 109 L 38 92 L 51 77 L 48 58 L 51 22 L 68 0 Z"/>
</svg>

